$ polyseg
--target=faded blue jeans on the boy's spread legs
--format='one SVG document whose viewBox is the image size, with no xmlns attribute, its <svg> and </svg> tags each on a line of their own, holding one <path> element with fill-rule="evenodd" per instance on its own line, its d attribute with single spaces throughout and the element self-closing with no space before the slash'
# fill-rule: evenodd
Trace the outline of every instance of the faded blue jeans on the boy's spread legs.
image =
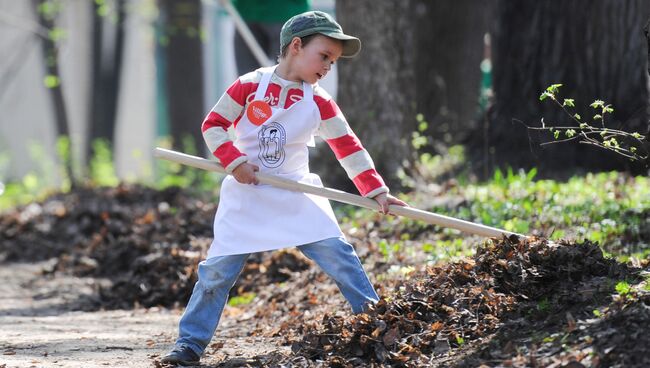
<svg viewBox="0 0 650 368">
<path fill-rule="evenodd" d="M 368 304 L 379 300 L 354 248 L 344 238 L 325 239 L 297 248 L 334 279 L 354 313 L 363 312 Z M 177 346 L 188 346 L 203 354 L 217 329 L 228 292 L 248 256 L 219 256 L 199 263 L 199 280 L 181 317 Z"/>
</svg>

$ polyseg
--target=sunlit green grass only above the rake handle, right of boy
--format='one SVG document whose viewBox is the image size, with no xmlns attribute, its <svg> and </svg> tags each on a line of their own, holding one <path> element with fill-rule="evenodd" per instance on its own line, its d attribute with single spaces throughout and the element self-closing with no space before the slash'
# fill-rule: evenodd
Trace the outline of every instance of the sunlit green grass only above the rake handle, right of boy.
<svg viewBox="0 0 650 368">
<path fill-rule="evenodd" d="M 555 181 L 535 180 L 535 174 L 497 171 L 488 182 L 445 193 L 463 197 L 461 206 L 425 209 L 552 240 L 588 239 L 621 260 L 650 255 L 649 178 L 608 172 Z"/>
</svg>

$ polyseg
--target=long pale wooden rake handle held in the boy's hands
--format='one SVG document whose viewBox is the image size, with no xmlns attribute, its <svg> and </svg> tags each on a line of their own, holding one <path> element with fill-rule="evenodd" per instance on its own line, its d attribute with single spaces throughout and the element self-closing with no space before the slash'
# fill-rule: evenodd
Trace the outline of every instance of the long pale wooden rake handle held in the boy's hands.
<svg viewBox="0 0 650 368">
<path fill-rule="evenodd" d="M 156 148 L 154 150 L 154 157 L 162 158 L 165 160 L 177 162 L 179 164 L 192 166 L 198 169 L 214 171 L 218 173 L 227 174 L 226 170 L 219 165 L 218 163 L 210 160 L 206 160 L 201 157 L 196 157 L 188 155 L 181 152 L 176 152 L 164 148 Z M 347 193 L 337 189 L 317 187 L 314 185 L 303 184 L 293 180 L 280 178 L 274 175 L 256 173 L 257 179 L 262 184 L 273 185 L 277 188 L 292 190 L 295 192 L 302 192 L 307 194 L 313 194 L 320 197 L 325 197 L 333 201 L 352 204 L 355 206 L 368 208 L 371 210 L 379 210 L 379 204 L 370 198 L 361 197 L 359 195 Z M 443 227 L 449 227 L 452 229 L 460 230 L 469 234 L 485 236 L 485 237 L 502 237 L 517 235 L 524 237 L 524 235 L 513 233 L 510 231 L 497 229 L 490 226 L 485 226 L 481 224 L 476 224 L 473 222 L 460 220 L 457 218 L 439 215 L 433 212 L 422 211 L 413 207 L 402 207 L 397 205 L 389 206 L 390 212 L 395 215 L 408 217 L 413 220 L 420 220 L 428 224 L 439 225 Z"/>
</svg>

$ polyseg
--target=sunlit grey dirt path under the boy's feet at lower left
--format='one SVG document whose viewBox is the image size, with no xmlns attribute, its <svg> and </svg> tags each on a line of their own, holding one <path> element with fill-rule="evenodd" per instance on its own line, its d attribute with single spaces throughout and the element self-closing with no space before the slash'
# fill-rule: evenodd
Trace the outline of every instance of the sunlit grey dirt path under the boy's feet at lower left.
<svg viewBox="0 0 650 368">
<path fill-rule="evenodd" d="M 181 310 L 84 312 L 101 281 L 43 276 L 44 267 L 0 266 L 0 367 L 153 367 L 173 344 Z M 224 318 L 202 363 L 260 365 L 265 354 L 288 351 L 279 339 L 248 337 L 254 324 Z"/>
</svg>

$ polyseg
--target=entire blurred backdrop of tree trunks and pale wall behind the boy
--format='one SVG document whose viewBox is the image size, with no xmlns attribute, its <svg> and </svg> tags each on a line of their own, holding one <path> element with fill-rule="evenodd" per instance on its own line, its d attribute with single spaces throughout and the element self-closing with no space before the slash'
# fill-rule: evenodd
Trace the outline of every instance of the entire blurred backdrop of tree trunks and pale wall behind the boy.
<svg viewBox="0 0 650 368">
<path fill-rule="evenodd" d="M 250 3 L 0 0 L 3 188 L 155 182 L 157 145 L 208 157 L 201 122 L 246 47 L 230 8 L 246 20 Z M 648 173 L 648 1 L 297 3 L 362 39 L 323 85 L 392 187 Z M 353 190 L 326 145 L 312 153 L 327 185 Z"/>
</svg>

